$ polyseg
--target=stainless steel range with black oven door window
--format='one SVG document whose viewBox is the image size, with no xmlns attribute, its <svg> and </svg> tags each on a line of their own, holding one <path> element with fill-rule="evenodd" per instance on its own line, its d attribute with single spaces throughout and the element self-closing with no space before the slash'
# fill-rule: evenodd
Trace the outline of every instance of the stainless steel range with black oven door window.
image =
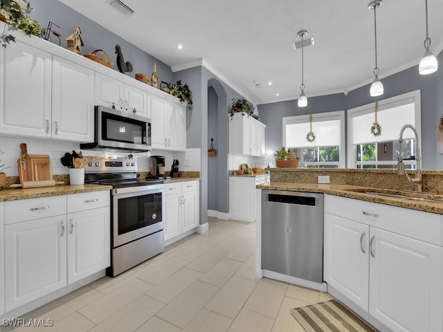
<svg viewBox="0 0 443 332">
<path fill-rule="evenodd" d="M 94 158 L 85 169 L 84 182 L 113 187 L 107 275 L 119 275 L 164 250 L 162 180 L 139 179 L 134 159 Z"/>
</svg>

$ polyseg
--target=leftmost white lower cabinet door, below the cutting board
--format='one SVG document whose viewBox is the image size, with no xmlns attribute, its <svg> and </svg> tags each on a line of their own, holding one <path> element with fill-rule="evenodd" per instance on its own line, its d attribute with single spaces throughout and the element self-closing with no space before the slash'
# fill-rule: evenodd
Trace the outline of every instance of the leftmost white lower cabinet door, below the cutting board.
<svg viewBox="0 0 443 332">
<path fill-rule="evenodd" d="M 6 312 L 66 282 L 66 214 L 5 226 Z"/>
</svg>

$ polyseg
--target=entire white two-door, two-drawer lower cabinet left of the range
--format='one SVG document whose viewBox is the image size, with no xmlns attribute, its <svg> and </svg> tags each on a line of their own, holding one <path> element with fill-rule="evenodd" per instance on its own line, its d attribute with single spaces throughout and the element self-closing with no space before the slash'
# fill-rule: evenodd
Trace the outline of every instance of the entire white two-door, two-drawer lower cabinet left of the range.
<svg viewBox="0 0 443 332">
<path fill-rule="evenodd" d="M 5 312 L 109 266 L 108 191 L 8 201 L 4 223 Z"/>
</svg>

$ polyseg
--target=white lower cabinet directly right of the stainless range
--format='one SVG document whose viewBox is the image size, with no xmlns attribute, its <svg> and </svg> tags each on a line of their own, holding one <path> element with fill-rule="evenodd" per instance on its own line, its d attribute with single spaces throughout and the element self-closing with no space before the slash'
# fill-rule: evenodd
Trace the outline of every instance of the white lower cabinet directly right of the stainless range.
<svg viewBox="0 0 443 332">
<path fill-rule="evenodd" d="M 199 225 L 199 181 L 165 184 L 165 241 Z"/>
</svg>

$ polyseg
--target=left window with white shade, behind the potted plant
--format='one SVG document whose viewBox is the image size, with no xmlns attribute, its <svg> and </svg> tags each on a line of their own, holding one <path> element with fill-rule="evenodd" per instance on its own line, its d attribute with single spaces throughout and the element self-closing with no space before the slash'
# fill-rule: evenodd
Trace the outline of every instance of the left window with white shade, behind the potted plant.
<svg viewBox="0 0 443 332">
<path fill-rule="evenodd" d="M 295 150 L 305 167 L 345 167 L 345 112 L 312 114 L 312 131 L 316 138 L 306 138 L 311 130 L 310 116 L 283 118 L 283 142 Z"/>
</svg>

